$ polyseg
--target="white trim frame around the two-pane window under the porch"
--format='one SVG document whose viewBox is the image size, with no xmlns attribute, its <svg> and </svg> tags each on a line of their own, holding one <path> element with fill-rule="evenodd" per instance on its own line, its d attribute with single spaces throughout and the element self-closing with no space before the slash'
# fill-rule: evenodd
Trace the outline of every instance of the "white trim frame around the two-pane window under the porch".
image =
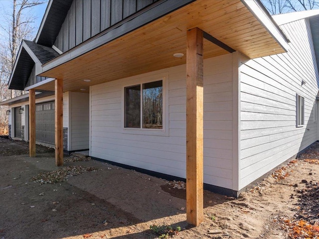
<svg viewBox="0 0 319 239">
<path fill-rule="evenodd" d="M 121 107 L 121 114 L 122 114 L 122 121 L 121 121 L 121 127 L 122 127 L 122 133 L 127 134 L 141 134 L 141 135 L 157 135 L 157 136 L 168 136 L 168 89 L 167 89 L 167 79 L 168 79 L 168 72 L 164 74 L 158 74 L 153 76 L 143 76 L 140 78 L 136 77 L 130 77 L 127 79 L 126 82 L 122 84 L 122 107 Z M 141 127 L 140 128 L 129 128 L 125 127 L 125 88 L 131 87 L 135 85 L 141 85 L 143 88 L 143 84 L 155 82 L 155 81 L 162 81 L 162 128 L 143 128 L 143 112 L 141 111 Z M 142 100 L 143 94 L 141 94 L 141 100 Z M 141 104 L 143 104 L 141 102 Z"/>
</svg>

